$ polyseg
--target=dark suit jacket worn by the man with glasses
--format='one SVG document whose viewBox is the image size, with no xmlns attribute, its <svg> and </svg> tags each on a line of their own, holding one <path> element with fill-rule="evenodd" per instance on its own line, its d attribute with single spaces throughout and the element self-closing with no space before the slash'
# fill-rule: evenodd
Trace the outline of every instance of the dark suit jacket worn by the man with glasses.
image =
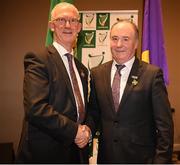
<svg viewBox="0 0 180 165">
<path fill-rule="evenodd" d="M 88 70 L 75 64 L 83 85 L 85 106 L 88 96 Z M 25 119 L 16 162 L 88 162 L 87 147 L 74 144 L 78 124 L 77 109 L 68 73 L 53 46 L 40 54 L 28 53 L 24 60 Z"/>
</svg>

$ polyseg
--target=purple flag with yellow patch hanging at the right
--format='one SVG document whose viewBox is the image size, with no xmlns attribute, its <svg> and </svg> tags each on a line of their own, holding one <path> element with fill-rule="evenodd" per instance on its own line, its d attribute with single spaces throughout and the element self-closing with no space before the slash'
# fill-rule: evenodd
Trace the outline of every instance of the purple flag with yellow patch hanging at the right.
<svg viewBox="0 0 180 165">
<path fill-rule="evenodd" d="M 144 3 L 142 60 L 159 66 L 163 70 L 166 85 L 169 84 L 161 0 L 145 0 Z"/>
</svg>

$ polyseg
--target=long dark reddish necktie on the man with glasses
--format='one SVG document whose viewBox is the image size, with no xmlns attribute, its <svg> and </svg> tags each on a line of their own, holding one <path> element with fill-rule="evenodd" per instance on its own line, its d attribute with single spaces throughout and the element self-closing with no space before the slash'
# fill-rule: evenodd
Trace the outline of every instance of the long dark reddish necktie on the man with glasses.
<svg viewBox="0 0 180 165">
<path fill-rule="evenodd" d="M 70 70 L 70 75 L 71 75 L 71 80 L 72 80 L 72 84 L 73 84 L 73 89 L 74 89 L 74 95 L 77 101 L 77 109 L 78 109 L 78 114 L 79 114 L 79 118 L 78 118 L 78 122 L 82 123 L 84 121 L 84 117 L 85 117 L 85 109 L 84 109 L 84 104 L 83 104 L 83 100 L 81 97 L 81 93 L 79 90 L 79 86 L 78 86 L 78 81 L 76 78 L 76 74 L 73 68 L 73 63 L 72 63 L 72 55 L 67 53 L 66 54 L 67 59 L 68 59 L 68 63 L 69 63 L 69 70 Z"/>
</svg>

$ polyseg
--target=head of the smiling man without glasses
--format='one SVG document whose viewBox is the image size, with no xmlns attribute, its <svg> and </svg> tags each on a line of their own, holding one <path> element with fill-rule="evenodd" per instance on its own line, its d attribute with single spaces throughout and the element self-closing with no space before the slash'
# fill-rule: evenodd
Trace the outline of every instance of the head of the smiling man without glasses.
<svg viewBox="0 0 180 165">
<path fill-rule="evenodd" d="M 135 28 L 130 22 L 122 21 L 113 25 L 110 33 L 112 58 L 119 64 L 129 61 L 138 46 Z"/>
</svg>

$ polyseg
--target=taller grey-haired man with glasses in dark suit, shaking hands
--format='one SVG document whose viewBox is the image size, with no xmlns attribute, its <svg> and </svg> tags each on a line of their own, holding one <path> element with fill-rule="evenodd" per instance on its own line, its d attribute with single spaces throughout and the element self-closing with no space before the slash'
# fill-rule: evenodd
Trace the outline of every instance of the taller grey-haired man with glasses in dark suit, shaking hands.
<svg viewBox="0 0 180 165">
<path fill-rule="evenodd" d="M 49 28 L 53 44 L 24 59 L 25 118 L 17 163 L 88 163 L 91 119 L 88 70 L 73 57 L 81 30 L 79 12 L 57 4 Z"/>
</svg>

